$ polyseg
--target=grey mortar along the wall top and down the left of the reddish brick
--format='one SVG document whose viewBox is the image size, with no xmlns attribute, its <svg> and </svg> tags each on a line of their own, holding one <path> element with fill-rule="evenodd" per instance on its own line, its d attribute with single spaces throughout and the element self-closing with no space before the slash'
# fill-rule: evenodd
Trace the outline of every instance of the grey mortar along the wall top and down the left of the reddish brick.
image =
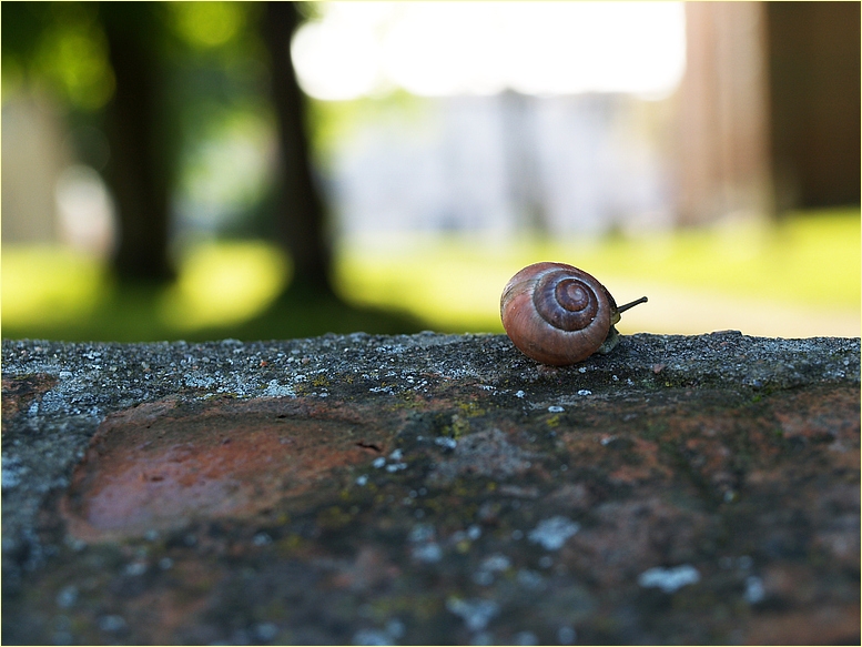
<svg viewBox="0 0 862 647">
<path fill-rule="evenodd" d="M 552 368 L 505 335 L 382 336 L 204 344 L 68 344 L 3 341 L 4 380 L 50 375 L 57 384 L 14 416 L 2 436 L 2 550 L 34 568 L 52 550 L 36 537 L 37 513 L 62 489 L 104 417 L 168 396 L 393 398 L 474 385 L 528 408 L 578 398 L 643 396 L 668 386 L 775 391 L 859 384 L 860 340 L 637 334 L 609 355 Z M 560 378 L 562 382 L 560 382 Z M 562 387 L 561 387 L 562 384 Z M 6 557 L 16 556 L 16 559 Z"/>
</svg>

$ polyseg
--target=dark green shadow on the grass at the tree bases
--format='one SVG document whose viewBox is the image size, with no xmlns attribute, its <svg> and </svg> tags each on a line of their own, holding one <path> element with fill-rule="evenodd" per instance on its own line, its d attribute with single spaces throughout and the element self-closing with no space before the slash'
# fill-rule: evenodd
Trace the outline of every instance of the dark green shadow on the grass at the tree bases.
<svg viewBox="0 0 862 647">
<path fill-rule="evenodd" d="M 335 296 L 282 294 L 260 315 L 231 325 L 196 330 L 172 325 L 161 316 L 169 286 L 122 284 L 88 313 L 67 321 L 3 324 L 3 338 L 64 342 L 203 342 L 227 337 L 244 342 L 311 337 L 325 333 L 410 334 L 427 330 L 406 312 L 348 304 Z"/>
</svg>

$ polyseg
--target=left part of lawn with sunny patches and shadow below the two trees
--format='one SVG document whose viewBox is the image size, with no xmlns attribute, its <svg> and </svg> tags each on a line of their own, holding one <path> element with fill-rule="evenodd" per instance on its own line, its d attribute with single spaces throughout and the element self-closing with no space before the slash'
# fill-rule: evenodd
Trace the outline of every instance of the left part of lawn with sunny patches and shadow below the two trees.
<svg viewBox="0 0 862 647">
<path fill-rule="evenodd" d="M 112 281 L 103 263 L 68 249 L 2 254 L 6 338 L 145 342 L 292 338 L 325 332 L 418 332 L 406 312 L 331 299 L 295 302 L 282 291 L 290 263 L 261 242 L 199 245 L 171 285 Z"/>
</svg>

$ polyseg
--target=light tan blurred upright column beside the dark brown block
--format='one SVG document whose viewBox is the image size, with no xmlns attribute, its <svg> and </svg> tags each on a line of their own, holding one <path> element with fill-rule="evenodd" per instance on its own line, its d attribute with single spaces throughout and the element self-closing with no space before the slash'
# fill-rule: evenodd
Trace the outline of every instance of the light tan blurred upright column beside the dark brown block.
<svg viewBox="0 0 862 647">
<path fill-rule="evenodd" d="M 686 4 L 679 223 L 771 214 L 764 4 Z"/>
</svg>

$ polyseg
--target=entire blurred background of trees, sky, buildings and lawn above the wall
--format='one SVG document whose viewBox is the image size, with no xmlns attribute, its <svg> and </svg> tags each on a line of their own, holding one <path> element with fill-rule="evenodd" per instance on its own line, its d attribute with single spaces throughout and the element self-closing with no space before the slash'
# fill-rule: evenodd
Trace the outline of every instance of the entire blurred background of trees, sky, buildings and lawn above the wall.
<svg viewBox="0 0 862 647">
<path fill-rule="evenodd" d="M 3 2 L 2 335 L 860 334 L 855 2 Z"/>
</svg>

